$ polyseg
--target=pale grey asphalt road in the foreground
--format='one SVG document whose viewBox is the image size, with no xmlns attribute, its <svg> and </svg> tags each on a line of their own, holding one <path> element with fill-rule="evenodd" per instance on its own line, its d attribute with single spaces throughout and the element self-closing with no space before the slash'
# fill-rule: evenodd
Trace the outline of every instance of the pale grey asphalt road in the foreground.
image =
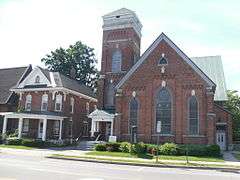
<svg viewBox="0 0 240 180">
<path fill-rule="evenodd" d="M 240 172 L 151 168 L 0 153 L 0 180 L 239 180 Z"/>
</svg>

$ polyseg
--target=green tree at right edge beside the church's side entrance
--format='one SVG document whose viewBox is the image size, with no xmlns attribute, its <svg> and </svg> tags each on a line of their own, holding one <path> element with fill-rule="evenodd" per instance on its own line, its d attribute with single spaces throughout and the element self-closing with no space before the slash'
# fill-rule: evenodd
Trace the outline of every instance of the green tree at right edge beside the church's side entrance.
<svg viewBox="0 0 240 180">
<path fill-rule="evenodd" d="M 240 97 L 237 91 L 228 91 L 227 95 L 225 106 L 233 115 L 233 140 L 240 141 Z"/>
</svg>

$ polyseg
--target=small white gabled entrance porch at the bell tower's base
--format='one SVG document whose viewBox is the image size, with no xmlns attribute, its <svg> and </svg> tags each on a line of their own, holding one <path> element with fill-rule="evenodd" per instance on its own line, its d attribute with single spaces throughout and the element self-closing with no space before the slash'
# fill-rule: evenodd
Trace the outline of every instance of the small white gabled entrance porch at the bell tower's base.
<svg viewBox="0 0 240 180">
<path fill-rule="evenodd" d="M 94 133 L 99 131 L 99 123 L 106 122 L 110 123 L 110 136 L 113 136 L 113 128 L 114 128 L 114 114 L 110 114 L 104 110 L 96 109 L 88 116 L 92 119 L 91 126 L 91 137 L 94 137 Z"/>
</svg>

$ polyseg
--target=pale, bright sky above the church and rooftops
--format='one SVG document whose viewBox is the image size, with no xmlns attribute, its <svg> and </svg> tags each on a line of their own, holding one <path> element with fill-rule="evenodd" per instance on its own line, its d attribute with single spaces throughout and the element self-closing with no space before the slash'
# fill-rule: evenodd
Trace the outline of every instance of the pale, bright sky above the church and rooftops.
<svg viewBox="0 0 240 180">
<path fill-rule="evenodd" d="M 0 0 L 0 68 L 28 64 L 77 40 L 101 60 L 102 18 L 126 7 L 143 24 L 141 52 L 164 32 L 189 57 L 221 55 L 240 91 L 239 0 Z"/>
</svg>

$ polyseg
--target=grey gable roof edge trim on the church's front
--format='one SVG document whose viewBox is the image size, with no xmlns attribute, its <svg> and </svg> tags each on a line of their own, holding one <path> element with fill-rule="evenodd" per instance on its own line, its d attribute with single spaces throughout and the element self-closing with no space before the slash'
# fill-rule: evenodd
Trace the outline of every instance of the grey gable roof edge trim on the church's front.
<svg viewBox="0 0 240 180">
<path fill-rule="evenodd" d="M 170 47 L 172 47 L 180 57 L 190 65 L 195 72 L 210 86 L 211 88 L 215 87 L 215 83 L 186 55 L 181 49 L 179 49 L 164 33 L 161 33 L 160 36 L 149 46 L 149 48 L 143 53 L 140 59 L 133 65 L 133 67 L 127 72 L 127 74 L 121 79 L 121 81 L 116 85 L 116 89 L 122 87 L 122 85 L 131 77 L 131 75 L 138 69 L 138 67 L 147 59 L 151 52 L 158 46 L 161 41 L 165 41 Z"/>
</svg>

